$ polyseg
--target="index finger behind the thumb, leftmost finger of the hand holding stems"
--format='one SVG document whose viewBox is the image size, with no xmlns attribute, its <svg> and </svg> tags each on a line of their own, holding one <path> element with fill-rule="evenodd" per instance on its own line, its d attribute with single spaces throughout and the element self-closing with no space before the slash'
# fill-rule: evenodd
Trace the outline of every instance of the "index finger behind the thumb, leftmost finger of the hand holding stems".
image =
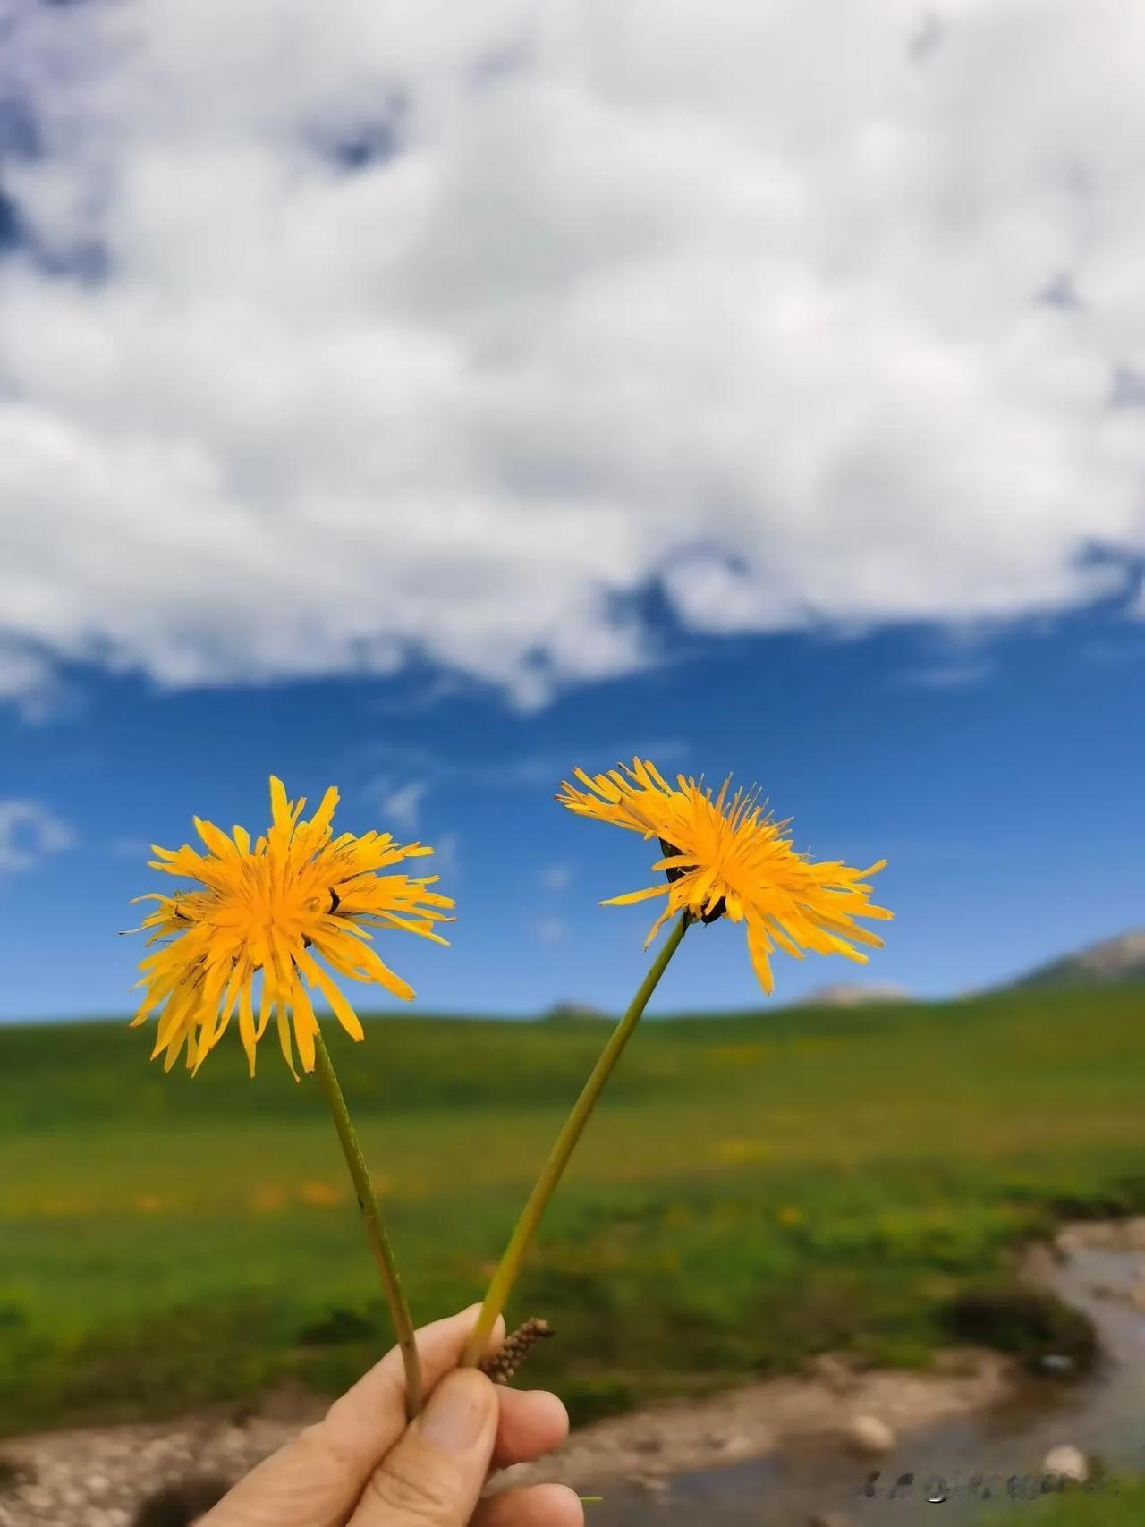
<svg viewBox="0 0 1145 1527">
<path fill-rule="evenodd" d="M 458 1365 L 478 1304 L 417 1332 L 429 1394 Z M 489 1350 L 504 1339 L 498 1321 Z M 264 1460 L 203 1518 L 202 1527 L 342 1527 L 366 1480 L 406 1429 L 402 1353 L 394 1348 L 334 1400 L 321 1422 Z"/>
</svg>

